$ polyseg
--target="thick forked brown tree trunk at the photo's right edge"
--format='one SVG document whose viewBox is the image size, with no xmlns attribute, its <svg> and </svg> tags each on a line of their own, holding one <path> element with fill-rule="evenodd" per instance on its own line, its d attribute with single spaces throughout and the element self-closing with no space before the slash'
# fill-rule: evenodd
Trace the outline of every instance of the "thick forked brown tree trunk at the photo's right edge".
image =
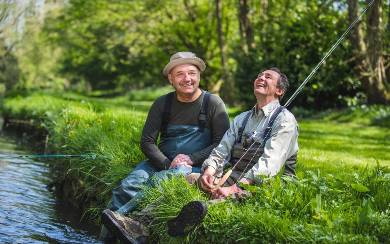
<svg viewBox="0 0 390 244">
<path fill-rule="evenodd" d="M 367 4 L 369 1 L 367 1 Z M 357 0 L 348 0 L 348 20 L 351 24 L 358 16 Z M 382 40 L 382 1 L 372 3 L 366 12 L 367 36 L 363 38 L 362 23 L 351 30 L 350 41 L 354 49 L 355 68 L 362 76 L 362 86 L 369 104 L 389 104 L 390 86 L 385 70 Z"/>
</svg>

